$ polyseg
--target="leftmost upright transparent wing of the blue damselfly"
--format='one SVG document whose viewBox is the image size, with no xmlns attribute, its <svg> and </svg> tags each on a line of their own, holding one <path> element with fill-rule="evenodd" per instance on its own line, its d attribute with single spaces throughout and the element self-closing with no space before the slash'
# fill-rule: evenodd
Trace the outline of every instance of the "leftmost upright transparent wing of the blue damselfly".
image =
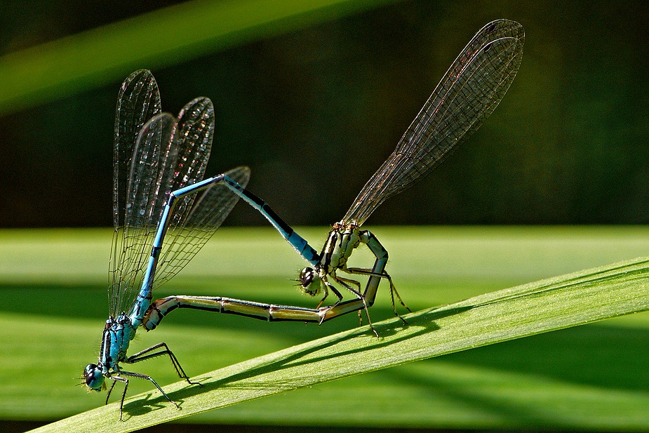
<svg viewBox="0 0 649 433">
<path fill-rule="evenodd" d="M 117 97 L 113 152 L 113 243 L 109 264 L 109 309 L 114 314 L 121 299 L 122 267 L 127 262 L 125 237 L 126 197 L 135 141 L 142 126 L 162 111 L 158 85 L 147 70 L 133 72 L 123 82 Z"/>
</svg>

